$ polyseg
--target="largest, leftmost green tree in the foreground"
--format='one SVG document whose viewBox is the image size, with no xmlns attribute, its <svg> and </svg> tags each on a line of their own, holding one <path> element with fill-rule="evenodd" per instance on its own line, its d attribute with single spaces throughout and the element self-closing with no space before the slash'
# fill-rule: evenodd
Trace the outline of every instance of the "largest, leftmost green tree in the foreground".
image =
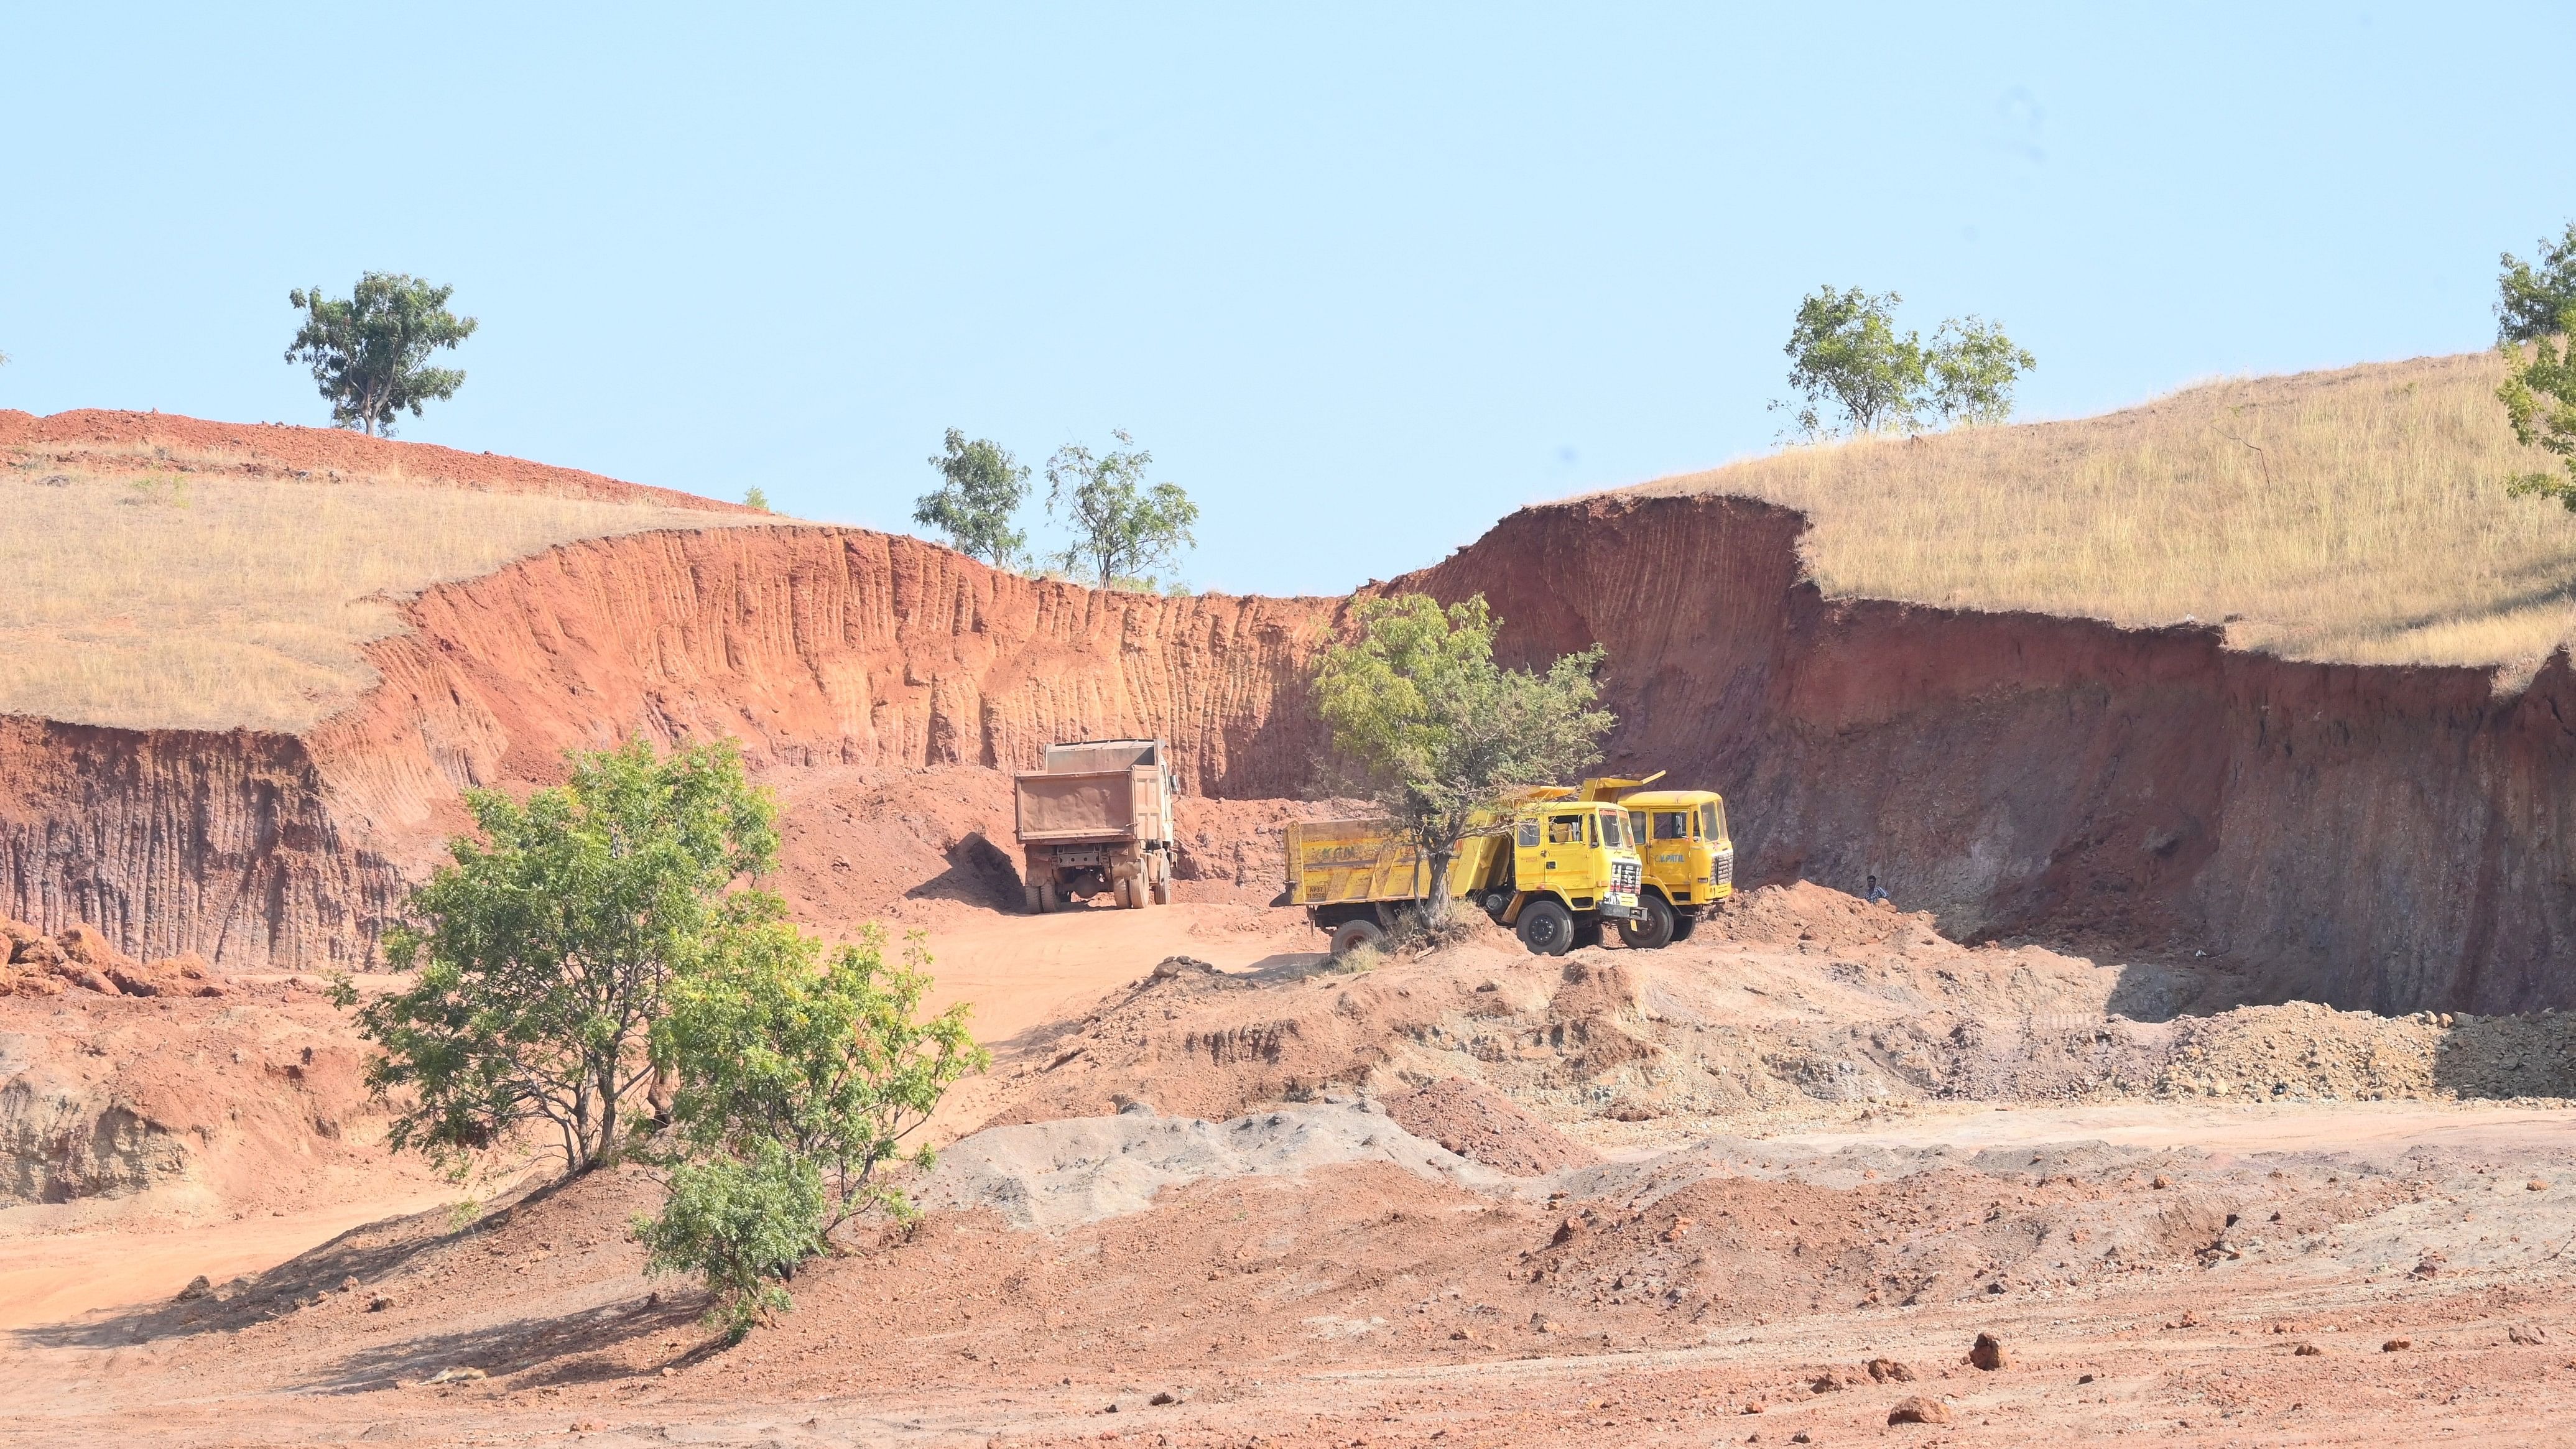
<svg viewBox="0 0 2576 1449">
<path fill-rule="evenodd" d="M 417 978 L 358 1009 L 381 1048 L 368 1084 L 397 1104 L 389 1145 L 456 1176 L 523 1125 L 554 1127 L 567 1171 L 613 1158 L 672 981 L 781 914 L 726 891 L 778 857 L 775 806 L 732 744 L 657 757 L 639 739 L 569 764 L 526 806 L 466 793 L 479 839 L 448 842 L 389 937 Z"/>
</svg>

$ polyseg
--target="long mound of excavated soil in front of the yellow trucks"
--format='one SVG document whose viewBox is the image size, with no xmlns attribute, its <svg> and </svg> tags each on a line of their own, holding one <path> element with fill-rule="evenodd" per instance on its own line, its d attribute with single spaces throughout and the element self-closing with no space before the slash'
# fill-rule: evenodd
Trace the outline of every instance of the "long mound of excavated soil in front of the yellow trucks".
<svg viewBox="0 0 2576 1449">
<path fill-rule="evenodd" d="M 2169 1019 L 2208 988 L 2184 968 L 1963 947 L 1927 916 L 1801 883 L 1656 952 L 1471 942 L 1363 975 L 1146 978 L 1005 1068 L 992 1120 L 1126 1099 L 1231 1117 L 1445 1078 L 1600 1140 L 1893 1102 L 2576 1096 L 2568 1017 L 2442 1027 L 2300 1004 Z"/>
</svg>

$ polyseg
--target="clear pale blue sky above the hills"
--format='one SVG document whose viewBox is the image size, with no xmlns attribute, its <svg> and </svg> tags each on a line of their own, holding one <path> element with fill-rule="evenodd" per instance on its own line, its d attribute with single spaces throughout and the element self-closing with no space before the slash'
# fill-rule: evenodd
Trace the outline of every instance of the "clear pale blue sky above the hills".
<svg viewBox="0 0 2576 1449">
<path fill-rule="evenodd" d="M 410 270 L 404 438 L 907 528 L 1123 425 L 1340 592 L 1767 448 L 1819 283 L 2063 417 L 2481 347 L 2576 216 L 2563 8 L 737 10 L 8 5 L 0 407 L 325 422 L 286 291 Z"/>
</svg>

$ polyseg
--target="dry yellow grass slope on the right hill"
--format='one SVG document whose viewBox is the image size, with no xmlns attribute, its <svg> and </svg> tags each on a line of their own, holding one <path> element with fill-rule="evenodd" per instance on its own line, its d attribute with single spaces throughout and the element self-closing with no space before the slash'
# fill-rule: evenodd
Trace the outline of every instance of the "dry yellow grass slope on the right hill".
<svg viewBox="0 0 2576 1449">
<path fill-rule="evenodd" d="M 2076 422 L 1790 448 L 1643 484 L 1806 510 L 1842 597 L 2226 623 L 2298 659 L 2530 667 L 2576 515 L 2509 499 L 2494 353 L 2215 381 Z"/>
</svg>

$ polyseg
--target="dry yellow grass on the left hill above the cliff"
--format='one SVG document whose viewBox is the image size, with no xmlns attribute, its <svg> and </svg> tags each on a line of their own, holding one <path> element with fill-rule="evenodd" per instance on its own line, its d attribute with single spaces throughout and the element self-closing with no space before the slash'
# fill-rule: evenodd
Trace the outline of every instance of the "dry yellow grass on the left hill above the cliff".
<svg viewBox="0 0 2576 1449">
<path fill-rule="evenodd" d="M 0 468 L 0 713 L 304 728 L 363 692 L 415 592 L 574 538 L 757 522 L 229 458 L 15 450 Z"/>
</svg>

